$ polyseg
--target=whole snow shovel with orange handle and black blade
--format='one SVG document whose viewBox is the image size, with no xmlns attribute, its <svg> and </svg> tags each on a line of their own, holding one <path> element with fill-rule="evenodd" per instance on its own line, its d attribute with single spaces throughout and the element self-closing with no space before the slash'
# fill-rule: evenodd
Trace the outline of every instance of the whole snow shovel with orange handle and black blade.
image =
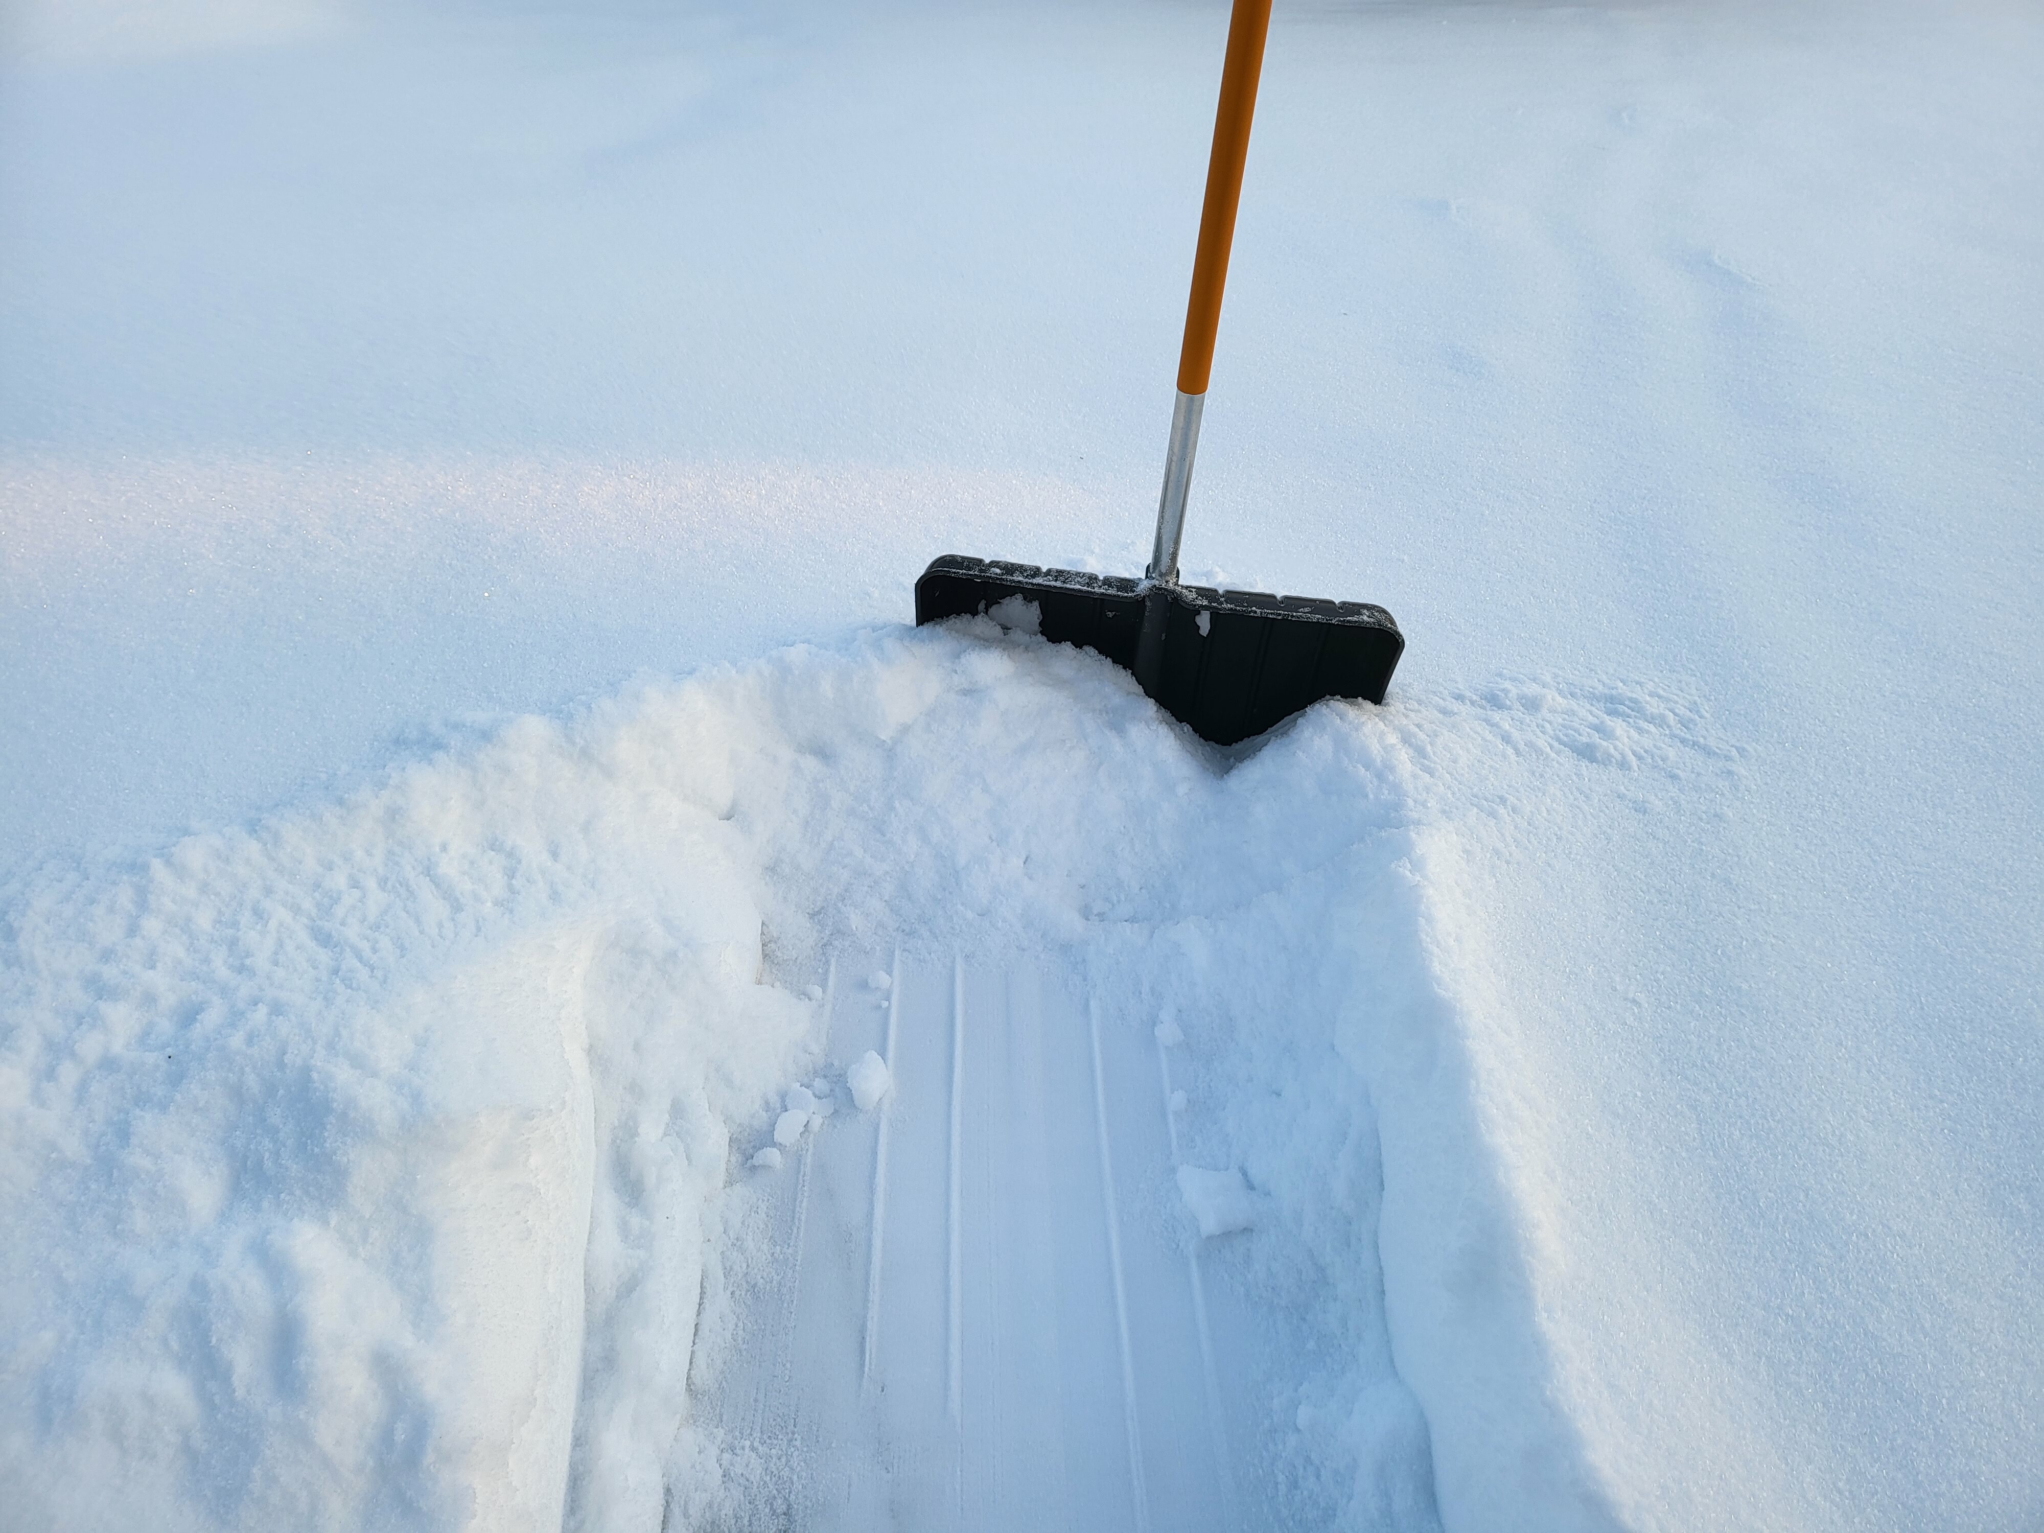
<svg viewBox="0 0 2044 1533">
<path fill-rule="evenodd" d="M 1020 597 L 1038 609 L 1038 632 L 1047 640 L 1098 650 L 1132 670 L 1171 717 L 1224 746 L 1263 734 L 1322 697 L 1382 703 L 1404 652 L 1392 615 L 1365 601 L 1214 591 L 1177 580 L 1186 491 L 1214 362 L 1269 14 L 1269 0 L 1235 0 L 1228 20 L 1149 570 L 1132 580 L 944 554 L 916 580 L 918 625 L 985 613 Z"/>
</svg>

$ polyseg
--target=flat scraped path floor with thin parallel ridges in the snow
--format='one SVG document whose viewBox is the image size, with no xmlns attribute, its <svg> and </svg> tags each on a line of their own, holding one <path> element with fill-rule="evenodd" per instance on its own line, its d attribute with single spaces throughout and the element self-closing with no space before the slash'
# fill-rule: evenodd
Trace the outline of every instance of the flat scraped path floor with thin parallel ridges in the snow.
<svg viewBox="0 0 2044 1533">
<path fill-rule="evenodd" d="M 1077 967 L 899 959 L 879 995 L 830 987 L 830 1071 L 871 1053 L 893 1091 L 752 1173 L 775 1257 L 701 1400 L 758 1470 L 750 1517 L 1245 1525 L 1257 1425 L 1226 1400 L 1286 1359 L 1202 1282 L 1161 1044 Z"/>
</svg>

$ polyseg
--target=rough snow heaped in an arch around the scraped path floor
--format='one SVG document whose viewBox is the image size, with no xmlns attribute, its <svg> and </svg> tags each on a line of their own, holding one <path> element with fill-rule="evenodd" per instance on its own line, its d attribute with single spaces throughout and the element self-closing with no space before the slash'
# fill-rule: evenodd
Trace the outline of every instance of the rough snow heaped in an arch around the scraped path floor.
<svg viewBox="0 0 2044 1533">
<path fill-rule="evenodd" d="M 1464 775 L 1694 744 L 1637 693 L 1527 689 L 1331 703 L 1216 752 L 1098 658 L 979 621 L 525 719 L 108 881 L 45 873 L 0 948 L 14 1508 L 660 1527 L 732 1447 L 687 1386 L 734 1163 L 828 1132 L 805 979 L 914 934 L 1147 955 L 1102 985 L 1141 1026 L 1186 1016 L 1173 1122 L 1233 1177 L 1188 1200 L 1253 1214 L 1243 1282 L 1333 1337 L 1284 1429 L 1337 1511 L 1427 1523 L 1429 1461 L 1570 1453 L 1433 977 L 1461 912 L 1429 914 L 1427 858 L 1492 805 L 1443 805 Z M 846 1085 L 889 1089 L 879 1059 Z M 1257 1273 L 1271 1224 L 1314 1271 Z"/>
</svg>

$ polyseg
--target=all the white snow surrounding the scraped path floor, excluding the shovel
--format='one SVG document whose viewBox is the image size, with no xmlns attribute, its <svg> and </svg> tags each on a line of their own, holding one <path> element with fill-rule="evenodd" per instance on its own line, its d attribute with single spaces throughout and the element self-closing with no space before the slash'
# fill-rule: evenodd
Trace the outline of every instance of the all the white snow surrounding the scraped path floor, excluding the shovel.
<svg viewBox="0 0 2044 1533">
<path fill-rule="evenodd" d="M 1218 25 L 10 8 L 6 1517 L 658 1527 L 885 932 L 1175 1008 L 1329 1521 L 2044 1519 L 2044 22 L 1280 6 L 1237 754 L 895 628 L 1141 568 Z"/>
</svg>

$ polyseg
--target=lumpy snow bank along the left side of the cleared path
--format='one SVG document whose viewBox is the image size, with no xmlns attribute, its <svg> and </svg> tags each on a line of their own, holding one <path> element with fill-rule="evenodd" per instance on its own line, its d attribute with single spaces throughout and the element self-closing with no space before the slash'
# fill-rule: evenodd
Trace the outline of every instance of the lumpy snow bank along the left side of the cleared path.
<svg viewBox="0 0 2044 1533">
<path fill-rule="evenodd" d="M 811 1006 L 728 760 L 634 744 L 519 724 L 12 905 L 16 1513 L 658 1527 L 701 1210 Z"/>
</svg>

